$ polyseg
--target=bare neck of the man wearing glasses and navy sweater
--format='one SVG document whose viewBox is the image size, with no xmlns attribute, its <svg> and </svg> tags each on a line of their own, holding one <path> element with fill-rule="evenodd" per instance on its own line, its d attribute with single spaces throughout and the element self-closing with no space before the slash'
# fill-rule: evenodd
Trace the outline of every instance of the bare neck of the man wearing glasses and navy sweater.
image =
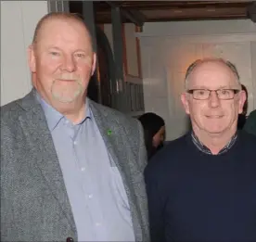
<svg viewBox="0 0 256 242">
<path fill-rule="evenodd" d="M 221 134 L 209 134 L 197 130 L 193 130 L 193 132 L 198 140 L 211 150 L 211 154 L 217 155 L 231 141 L 237 130 L 229 130 Z"/>
</svg>

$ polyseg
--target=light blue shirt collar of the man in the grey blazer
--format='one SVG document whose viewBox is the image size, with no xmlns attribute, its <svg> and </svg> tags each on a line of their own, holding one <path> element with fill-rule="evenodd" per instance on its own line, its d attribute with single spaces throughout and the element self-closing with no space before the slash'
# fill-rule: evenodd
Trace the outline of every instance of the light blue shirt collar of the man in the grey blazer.
<svg viewBox="0 0 256 242">
<path fill-rule="evenodd" d="M 47 102 L 45 102 L 44 98 L 36 92 L 36 99 L 38 102 L 41 104 L 44 112 L 45 112 L 45 118 L 49 127 L 50 132 L 52 132 L 57 126 L 59 121 L 62 119 L 66 119 L 66 117 L 58 112 L 57 109 L 53 108 L 51 105 L 49 105 Z M 92 117 L 92 112 L 91 109 L 89 108 L 89 101 L 90 99 L 86 97 L 85 101 L 85 117 L 83 121 L 85 121 L 87 118 L 91 119 Z M 81 121 L 80 123 L 82 123 Z M 79 124 L 80 124 L 79 123 Z"/>
</svg>

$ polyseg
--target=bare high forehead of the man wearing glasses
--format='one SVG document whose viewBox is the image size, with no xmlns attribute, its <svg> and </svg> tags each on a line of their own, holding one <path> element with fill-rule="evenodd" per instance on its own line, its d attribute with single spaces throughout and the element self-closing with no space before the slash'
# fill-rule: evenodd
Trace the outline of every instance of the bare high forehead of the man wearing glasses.
<svg viewBox="0 0 256 242">
<path fill-rule="evenodd" d="M 237 85 L 237 77 L 222 62 L 206 62 L 199 64 L 190 74 L 189 87 L 233 87 Z"/>
</svg>

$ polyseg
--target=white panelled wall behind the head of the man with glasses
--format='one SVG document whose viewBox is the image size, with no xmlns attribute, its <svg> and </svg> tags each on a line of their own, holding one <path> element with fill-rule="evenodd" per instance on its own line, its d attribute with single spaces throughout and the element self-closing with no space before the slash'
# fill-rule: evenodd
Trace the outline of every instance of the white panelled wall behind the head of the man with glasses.
<svg viewBox="0 0 256 242">
<path fill-rule="evenodd" d="M 167 123 L 167 139 L 186 132 L 180 102 L 188 65 L 201 57 L 224 57 L 236 64 L 256 108 L 256 24 L 248 20 L 146 23 L 141 42 L 145 110 Z"/>
</svg>

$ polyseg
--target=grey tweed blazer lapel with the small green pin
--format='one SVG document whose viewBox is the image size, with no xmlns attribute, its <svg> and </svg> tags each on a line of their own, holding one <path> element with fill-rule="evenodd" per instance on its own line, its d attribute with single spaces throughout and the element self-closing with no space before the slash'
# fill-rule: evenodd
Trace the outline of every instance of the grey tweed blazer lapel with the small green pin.
<svg viewBox="0 0 256 242">
<path fill-rule="evenodd" d="M 93 112 L 94 118 L 96 120 L 97 127 L 103 137 L 103 140 L 108 148 L 110 158 L 119 169 L 122 176 L 122 182 L 129 200 L 130 210 L 132 214 L 133 224 L 134 224 L 134 236 L 136 241 L 143 240 L 142 227 L 140 223 L 140 216 L 138 215 L 140 210 L 138 204 L 136 203 L 136 195 L 134 191 L 134 186 L 136 186 L 133 179 L 137 171 L 130 164 L 130 156 L 123 151 L 123 147 L 127 144 L 123 143 L 122 135 L 124 134 L 121 129 L 120 121 L 115 120 L 117 117 L 109 114 L 109 110 L 105 108 L 100 108 L 98 104 L 90 101 L 90 108 Z M 131 152 L 132 153 L 132 152 Z M 111 162 L 111 160 L 110 160 Z"/>
</svg>

